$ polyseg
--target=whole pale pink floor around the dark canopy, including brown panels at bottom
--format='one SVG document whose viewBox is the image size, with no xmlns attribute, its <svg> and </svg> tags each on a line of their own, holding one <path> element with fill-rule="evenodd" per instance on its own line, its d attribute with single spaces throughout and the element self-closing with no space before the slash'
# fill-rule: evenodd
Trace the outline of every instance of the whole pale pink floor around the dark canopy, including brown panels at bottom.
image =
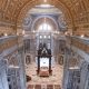
<svg viewBox="0 0 89 89">
<path fill-rule="evenodd" d="M 37 76 L 36 70 L 34 62 L 26 67 L 26 73 L 31 77 L 31 80 L 27 82 L 28 89 L 62 89 L 62 66 L 53 65 L 52 76 L 46 78 Z"/>
</svg>

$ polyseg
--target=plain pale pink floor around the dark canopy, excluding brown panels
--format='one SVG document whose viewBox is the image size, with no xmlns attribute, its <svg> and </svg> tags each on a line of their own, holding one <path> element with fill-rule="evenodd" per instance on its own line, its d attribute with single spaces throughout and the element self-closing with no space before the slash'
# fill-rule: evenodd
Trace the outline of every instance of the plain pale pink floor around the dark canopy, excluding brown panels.
<svg viewBox="0 0 89 89">
<path fill-rule="evenodd" d="M 58 85 L 62 89 L 62 76 L 63 76 L 63 67 L 60 65 L 52 66 L 52 76 L 49 77 L 39 77 L 37 76 L 37 65 L 32 62 L 31 65 L 26 66 L 27 76 L 31 77 L 31 80 L 27 82 L 29 85 Z M 43 88 L 46 89 L 46 88 Z M 51 88 L 50 88 L 51 89 Z M 57 88 L 59 89 L 59 88 Z"/>
</svg>

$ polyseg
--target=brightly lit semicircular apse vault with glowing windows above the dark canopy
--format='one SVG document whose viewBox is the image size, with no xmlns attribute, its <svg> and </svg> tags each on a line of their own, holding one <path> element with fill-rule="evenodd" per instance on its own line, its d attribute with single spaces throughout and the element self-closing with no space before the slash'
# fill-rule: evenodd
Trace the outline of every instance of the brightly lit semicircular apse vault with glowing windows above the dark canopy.
<svg viewBox="0 0 89 89">
<path fill-rule="evenodd" d="M 52 32 L 58 30 L 58 23 L 53 18 L 42 16 L 41 18 L 36 19 L 32 29 L 37 32 Z"/>
</svg>

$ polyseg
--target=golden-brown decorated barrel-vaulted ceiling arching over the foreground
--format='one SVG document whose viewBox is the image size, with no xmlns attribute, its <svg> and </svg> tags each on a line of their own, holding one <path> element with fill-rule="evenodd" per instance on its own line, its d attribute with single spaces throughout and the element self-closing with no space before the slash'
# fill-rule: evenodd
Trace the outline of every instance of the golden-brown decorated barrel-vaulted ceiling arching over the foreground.
<svg viewBox="0 0 89 89">
<path fill-rule="evenodd" d="M 0 21 L 20 24 L 28 10 L 39 3 L 61 9 L 69 26 L 89 23 L 89 0 L 0 0 Z"/>
</svg>

